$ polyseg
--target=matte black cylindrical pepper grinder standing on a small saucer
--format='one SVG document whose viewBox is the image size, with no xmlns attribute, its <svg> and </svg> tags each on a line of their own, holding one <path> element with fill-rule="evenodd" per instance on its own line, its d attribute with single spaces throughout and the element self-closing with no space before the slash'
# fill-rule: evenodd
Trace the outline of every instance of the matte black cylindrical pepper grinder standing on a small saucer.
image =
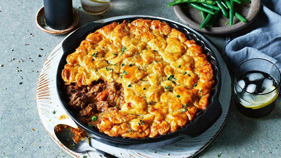
<svg viewBox="0 0 281 158">
<path fill-rule="evenodd" d="M 44 0 L 44 12 L 50 28 L 63 30 L 73 23 L 72 0 Z"/>
</svg>

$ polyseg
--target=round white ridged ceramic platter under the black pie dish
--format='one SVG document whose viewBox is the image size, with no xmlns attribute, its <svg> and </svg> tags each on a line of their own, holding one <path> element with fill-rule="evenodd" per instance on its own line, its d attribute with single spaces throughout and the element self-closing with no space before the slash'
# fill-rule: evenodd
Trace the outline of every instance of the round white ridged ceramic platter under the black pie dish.
<svg viewBox="0 0 281 158">
<path fill-rule="evenodd" d="M 112 18 L 107 18 L 103 20 L 98 20 L 96 22 L 107 22 L 115 19 L 120 18 L 130 18 L 130 17 L 149 17 L 149 18 L 159 18 L 163 20 L 168 20 L 174 22 L 176 24 L 185 26 L 180 24 L 179 22 L 155 17 L 155 16 L 144 16 L 144 15 L 134 15 L 134 16 L 117 16 Z M 185 26 L 187 27 L 187 26 Z M 187 27 L 189 28 L 189 27 Z M 191 29 L 191 28 L 189 28 Z M 193 29 L 191 29 L 194 31 Z M 200 33 L 194 31 L 197 35 L 202 36 Z M 65 37 L 66 38 L 66 37 Z M 64 39 L 65 39 L 64 38 Z M 217 51 L 217 49 L 206 39 L 202 36 L 202 38 L 206 41 L 208 45 L 210 45 L 211 49 L 216 54 L 219 64 L 221 67 L 221 76 L 222 76 L 222 85 L 224 87 L 221 89 L 221 93 L 219 96 L 219 101 L 223 108 L 223 112 L 221 117 L 217 120 L 214 125 L 212 125 L 206 132 L 196 138 L 184 138 L 183 140 L 176 142 L 174 144 L 164 146 L 162 148 L 157 149 L 149 149 L 149 150 L 127 150 L 127 149 L 119 149 L 115 148 L 103 143 L 100 143 L 96 140 L 91 139 L 90 143 L 94 148 L 100 149 L 110 154 L 114 154 L 117 157 L 134 157 L 134 158 L 178 158 L 178 157 L 192 157 L 202 151 L 212 140 L 217 136 L 221 128 L 223 127 L 225 120 L 227 118 L 229 107 L 230 107 L 230 100 L 231 100 L 231 80 L 230 75 L 227 69 L 225 62 L 223 61 L 221 55 Z M 50 53 L 47 60 L 45 61 L 37 83 L 37 91 L 36 91 L 36 102 L 37 102 L 37 110 L 39 113 L 40 120 L 51 136 L 51 138 L 58 144 L 64 151 L 69 153 L 73 157 L 82 158 L 83 156 L 88 157 L 99 157 L 95 152 L 87 152 L 87 153 L 74 153 L 69 151 L 65 146 L 63 146 L 54 134 L 54 127 L 57 124 L 67 124 L 72 127 L 77 127 L 75 122 L 68 117 L 64 108 L 62 107 L 58 94 L 56 91 L 56 71 L 58 67 L 58 63 L 60 58 L 62 57 L 63 51 L 61 48 L 62 42 L 64 39 L 58 43 L 58 45 L 54 48 L 54 50 Z M 52 111 L 56 111 L 55 114 Z M 67 116 L 68 118 L 60 119 L 62 115 Z"/>
</svg>

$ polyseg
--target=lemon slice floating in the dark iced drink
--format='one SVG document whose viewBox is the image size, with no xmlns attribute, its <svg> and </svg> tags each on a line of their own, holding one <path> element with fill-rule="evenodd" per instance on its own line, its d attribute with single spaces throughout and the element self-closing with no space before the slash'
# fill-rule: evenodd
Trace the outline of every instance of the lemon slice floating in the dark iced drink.
<svg viewBox="0 0 281 158">
<path fill-rule="evenodd" d="M 263 93 L 268 93 L 274 89 L 275 87 L 272 86 L 270 88 L 265 89 Z M 240 99 L 240 104 L 242 104 L 246 108 L 258 109 L 271 104 L 276 100 L 277 97 L 278 97 L 278 92 L 277 90 L 275 90 L 274 92 L 271 92 L 269 94 L 257 95 L 253 100 L 250 100 L 250 102 L 246 102 L 245 100 Z"/>
</svg>

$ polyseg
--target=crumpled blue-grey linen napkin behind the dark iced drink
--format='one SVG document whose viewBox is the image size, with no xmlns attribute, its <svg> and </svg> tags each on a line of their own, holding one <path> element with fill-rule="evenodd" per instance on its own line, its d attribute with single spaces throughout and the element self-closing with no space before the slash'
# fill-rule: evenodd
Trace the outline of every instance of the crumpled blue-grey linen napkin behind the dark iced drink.
<svg viewBox="0 0 281 158">
<path fill-rule="evenodd" d="M 261 2 L 257 18 L 226 38 L 221 55 L 233 72 L 242 62 L 252 58 L 269 60 L 281 70 L 281 1 Z"/>
</svg>

